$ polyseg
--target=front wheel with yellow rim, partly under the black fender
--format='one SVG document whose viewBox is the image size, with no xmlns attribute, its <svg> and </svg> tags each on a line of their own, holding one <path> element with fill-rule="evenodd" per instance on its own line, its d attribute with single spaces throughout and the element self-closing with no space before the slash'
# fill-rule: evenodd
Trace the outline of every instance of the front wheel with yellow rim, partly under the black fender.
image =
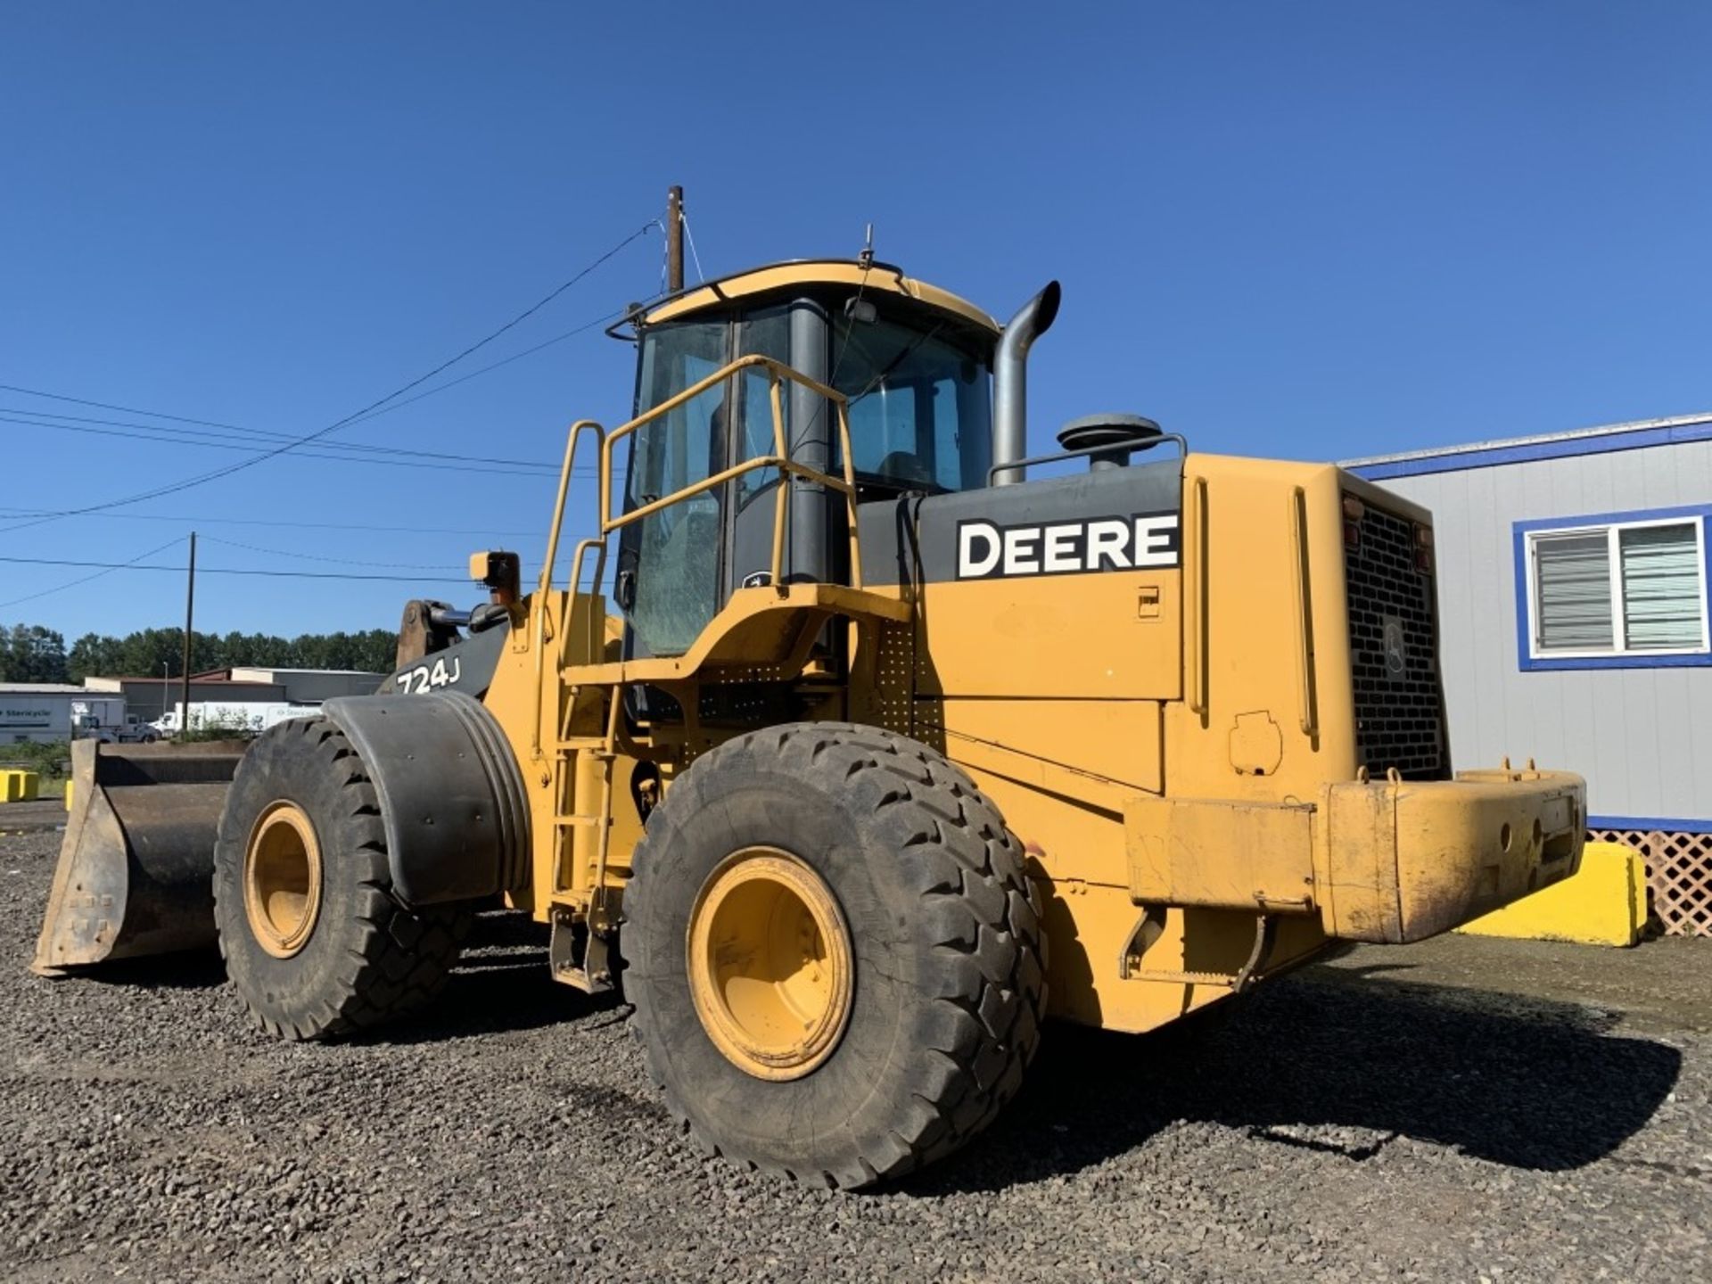
<svg viewBox="0 0 1712 1284">
<path fill-rule="evenodd" d="M 426 1003 L 469 911 L 394 899 L 375 786 L 344 734 L 313 717 L 264 731 L 238 764 L 214 847 L 214 921 L 262 1027 L 324 1039 Z"/>
</svg>

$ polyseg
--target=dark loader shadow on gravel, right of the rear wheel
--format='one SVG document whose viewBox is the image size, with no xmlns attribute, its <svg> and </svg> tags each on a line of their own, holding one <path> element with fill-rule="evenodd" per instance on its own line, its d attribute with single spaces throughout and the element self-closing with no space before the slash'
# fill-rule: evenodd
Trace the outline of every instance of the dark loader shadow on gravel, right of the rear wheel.
<svg viewBox="0 0 1712 1284">
<path fill-rule="evenodd" d="M 1537 998 L 1308 972 L 1239 1003 L 1226 1022 L 1140 1039 L 1055 1022 L 1012 1108 L 897 1190 L 1063 1176 L 1176 1121 L 1351 1162 L 1409 1137 L 1510 1168 L 1575 1169 L 1638 1132 L 1681 1070 L 1676 1048 Z"/>
</svg>

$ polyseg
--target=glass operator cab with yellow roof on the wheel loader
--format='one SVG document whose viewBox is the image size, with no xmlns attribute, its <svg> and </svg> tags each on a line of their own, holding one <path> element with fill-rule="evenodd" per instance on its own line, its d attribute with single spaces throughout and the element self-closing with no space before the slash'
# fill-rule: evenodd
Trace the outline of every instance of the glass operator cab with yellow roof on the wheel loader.
<svg viewBox="0 0 1712 1284">
<path fill-rule="evenodd" d="M 883 264 L 764 267 L 635 320 L 635 413 L 760 354 L 849 399 L 859 500 L 974 490 L 993 462 L 998 334 L 979 308 Z M 781 402 L 789 459 L 839 476 L 832 404 L 793 382 L 781 385 Z M 770 380 L 750 366 L 632 435 L 623 510 L 770 454 Z M 770 582 L 779 484 L 774 467 L 740 473 L 623 529 L 613 596 L 628 625 L 627 656 L 683 654 L 733 591 Z M 803 479 L 791 484 L 784 579 L 842 582 L 842 496 Z"/>
</svg>

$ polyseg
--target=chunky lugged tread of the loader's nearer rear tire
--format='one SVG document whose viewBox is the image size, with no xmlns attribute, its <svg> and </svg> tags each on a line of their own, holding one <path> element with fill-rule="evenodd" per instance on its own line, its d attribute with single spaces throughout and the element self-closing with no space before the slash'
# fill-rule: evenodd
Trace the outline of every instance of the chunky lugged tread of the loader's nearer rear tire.
<svg viewBox="0 0 1712 1284">
<path fill-rule="evenodd" d="M 856 722 L 794 722 L 748 733 L 712 753 L 760 755 L 781 769 L 823 777 L 839 793 L 875 789 L 875 822 L 901 834 L 899 870 L 938 924 L 933 954 L 945 964 L 928 995 L 938 1008 L 936 1056 L 921 1060 L 911 1097 L 919 1108 L 885 1137 L 873 1137 L 851 1171 L 779 1171 L 793 1181 L 851 1188 L 931 1164 L 986 1128 L 1017 1094 L 1039 1048 L 1046 1015 L 1043 901 L 1024 871 L 1022 844 L 993 801 L 933 748 Z M 671 806 L 668 791 L 661 806 Z M 647 837 L 635 853 L 632 894 L 645 895 Z M 639 887 L 637 883 L 642 883 Z M 664 1049 L 645 1020 L 632 1020 L 649 1077 L 702 1154 L 721 1156 L 702 1135 L 663 1072 Z M 731 1156 L 750 1168 L 755 1164 Z"/>
</svg>

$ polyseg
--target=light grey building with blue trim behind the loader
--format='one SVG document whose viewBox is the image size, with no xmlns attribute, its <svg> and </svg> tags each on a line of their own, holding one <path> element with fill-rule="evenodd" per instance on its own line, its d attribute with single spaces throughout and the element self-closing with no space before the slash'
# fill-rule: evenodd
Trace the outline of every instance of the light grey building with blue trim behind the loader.
<svg viewBox="0 0 1712 1284">
<path fill-rule="evenodd" d="M 1594 829 L 1712 834 L 1712 414 L 1344 467 L 1433 510 L 1459 765 L 1563 765 Z"/>
</svg>

